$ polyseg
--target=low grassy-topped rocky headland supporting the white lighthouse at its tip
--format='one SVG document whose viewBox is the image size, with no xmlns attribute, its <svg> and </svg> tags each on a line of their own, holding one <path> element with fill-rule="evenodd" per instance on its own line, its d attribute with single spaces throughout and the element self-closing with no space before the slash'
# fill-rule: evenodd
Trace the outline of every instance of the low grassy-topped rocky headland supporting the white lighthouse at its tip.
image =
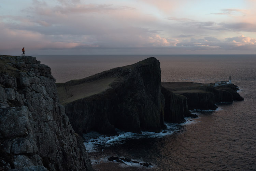
<svg viewBox="0 0 256 171">
<path fill-rule="evenodd" d="M 187 97 L 189 110 L 215 110 L 215 103 L 243 100 L 237 93 L 238 87 L 233 84 L 210 86 L 202 83 L 162 82 L 161 85 L 174 94 Z"/>
</svg>

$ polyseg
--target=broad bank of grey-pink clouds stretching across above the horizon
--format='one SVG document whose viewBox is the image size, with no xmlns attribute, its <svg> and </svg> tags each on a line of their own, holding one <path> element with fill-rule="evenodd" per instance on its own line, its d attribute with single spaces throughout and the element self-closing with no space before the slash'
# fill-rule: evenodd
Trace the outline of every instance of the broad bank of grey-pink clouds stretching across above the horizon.
<svg viewBox="0 0 256 171">
<path fill-rule="evenodd" d="M 20 49 L 20 46 L 35 51 L 48 50 L 83 53 L 87 50 L 131 49 L 154 52 L 218 52 L 236 49 L 255 51 L 255 39 L 251 37 L 223 38 L 223 35 L 238 35 L 255 32 L 254 20 L 199 20 L 186 15 L 177 17 L 169 14 L 180 3 L 164 0 L 139 0 L 150 9 L 167 10 L 168 15 L 154 16 L 132 3 L 87 3 L 80 0 L 34 0 L 20 15 L 0 16 L 0 50 Z M 110 2 L 110 1 L 108 1 Z M 153 6 L 153 7 L 152 7 Z M 145 6 L 144 6 L 145 7 Z M 175 9 L 177 10 L 177 9 Z M 157 10 L 155 10 L 157 11 Z M 154 11 L 154 12 L 155 12 Z M 158 11 L 159 12 L 159 11 Z M 242 13 L 239 9 L 224 9 L 225 13 Z M 171 16 L 171 17 L 168 17 Z M 253 35 L 253 34 L 251 34 Z M 163 51 L 160 51 L 163 50 Z M 51 51 L 51 52 L 52 52 Z M 71 51 L 69 51 L 71 52 Z"/>
</svg>

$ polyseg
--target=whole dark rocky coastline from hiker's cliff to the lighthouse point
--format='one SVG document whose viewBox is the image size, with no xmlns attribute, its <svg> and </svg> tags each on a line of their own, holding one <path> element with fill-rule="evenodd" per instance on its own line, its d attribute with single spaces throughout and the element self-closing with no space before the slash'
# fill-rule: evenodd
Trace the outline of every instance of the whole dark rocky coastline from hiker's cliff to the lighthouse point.
<svg viewBox="0 0 256 171">
<path fill-rule="evenodd" d="M 35 57 L 0 55 L 0 71 L 0 170 L 93 170 L 83 133 L 161 132 L 197 117 L 189 110 L 243 100 L 233 84 L 161 82 L 153 57 L 57 86 Z"/>
</svg>

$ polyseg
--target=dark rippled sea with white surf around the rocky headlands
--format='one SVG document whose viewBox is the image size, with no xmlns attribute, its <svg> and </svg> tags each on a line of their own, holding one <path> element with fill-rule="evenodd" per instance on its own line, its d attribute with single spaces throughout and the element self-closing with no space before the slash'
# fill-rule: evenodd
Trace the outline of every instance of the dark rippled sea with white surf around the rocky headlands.
<svg viewBox="0 0 256 171">
<path fill-rule="evenodd" d="M 52 69 L 56 82 L 82 79 L 96 73 L 156 57 L 164 82 L 214 83 L 239 86 L 244 101 L 219 103 L 216 111 L 193 111 L 198 118 L 167 125 L 166 133 L 118 136 L 84 134 L 95 170 L 256 170 L 256 55 L 52 55 L 36 56 Z M 151 163 L 108 161 L 110 156 Z"/>
</svg>

